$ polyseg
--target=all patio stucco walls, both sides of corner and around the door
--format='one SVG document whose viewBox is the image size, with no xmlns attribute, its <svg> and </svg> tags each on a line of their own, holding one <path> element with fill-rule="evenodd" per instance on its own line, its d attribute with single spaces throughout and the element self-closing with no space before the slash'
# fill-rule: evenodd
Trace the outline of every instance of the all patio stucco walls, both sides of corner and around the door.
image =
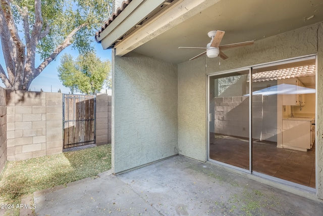
<svg viewBox="0 0 323 216">
<path fill-rule="evenodd" d="M 316 54 L 316 182 L 317 196 L 323 199 L 323 24 L 225 53 L 225 61 L 202 57 L 177 66 L 137 53 L 114 57 L 114 172 L 176 153 L 206 160 L 206 74 Z"/>
</svg>

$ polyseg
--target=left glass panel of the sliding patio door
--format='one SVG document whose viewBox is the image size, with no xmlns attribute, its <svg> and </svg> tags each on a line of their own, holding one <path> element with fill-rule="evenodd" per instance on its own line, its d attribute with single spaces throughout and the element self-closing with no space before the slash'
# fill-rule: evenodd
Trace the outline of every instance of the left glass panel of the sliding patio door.
<svg viewBox="0 0 323 216">
<path fill-rule="evenodd" d="M 249 170 L 249 69 L 209 76 L 209 158 Z"/>
</svg>

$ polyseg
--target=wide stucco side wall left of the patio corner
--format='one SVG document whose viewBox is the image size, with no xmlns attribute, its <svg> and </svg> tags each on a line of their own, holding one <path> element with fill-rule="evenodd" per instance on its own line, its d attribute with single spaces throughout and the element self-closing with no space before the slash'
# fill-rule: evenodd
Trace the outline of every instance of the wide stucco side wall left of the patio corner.
<svg viewBox="0 0 323 216">
<path fill-rule="evenodd" d="M 114 58 L 113 171 L 175 155 L 177 65 L 135 52 Z"/>
</svg>

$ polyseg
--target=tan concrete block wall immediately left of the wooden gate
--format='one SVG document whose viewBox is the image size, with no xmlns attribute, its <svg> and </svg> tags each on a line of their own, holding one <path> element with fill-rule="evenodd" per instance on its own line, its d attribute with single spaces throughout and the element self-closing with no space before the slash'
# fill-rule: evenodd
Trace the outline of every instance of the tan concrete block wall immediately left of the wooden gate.
<svg viewBox="0 0 323 216">
<path fill-rule="evenodd" d="M 62 151 L 62 94 L 7 90 L 7 159 Z"/>
</svg>

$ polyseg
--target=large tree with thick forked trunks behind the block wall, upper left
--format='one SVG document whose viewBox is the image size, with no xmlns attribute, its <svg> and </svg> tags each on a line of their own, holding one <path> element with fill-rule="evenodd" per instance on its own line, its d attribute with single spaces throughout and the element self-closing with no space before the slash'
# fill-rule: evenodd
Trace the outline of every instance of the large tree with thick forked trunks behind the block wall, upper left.
<svg viewBox="0 0 323 216">
<path fill-rule="evenodd" d="M 0 78 L 6 87 L 28 90 L 31 81 L 70 45 L 81 55 L 91 52 L 94 30 L 110 16 L 111 5 L 112 0 L 1 0 L 6 67 L 0 64 Z"/>
</svg>

